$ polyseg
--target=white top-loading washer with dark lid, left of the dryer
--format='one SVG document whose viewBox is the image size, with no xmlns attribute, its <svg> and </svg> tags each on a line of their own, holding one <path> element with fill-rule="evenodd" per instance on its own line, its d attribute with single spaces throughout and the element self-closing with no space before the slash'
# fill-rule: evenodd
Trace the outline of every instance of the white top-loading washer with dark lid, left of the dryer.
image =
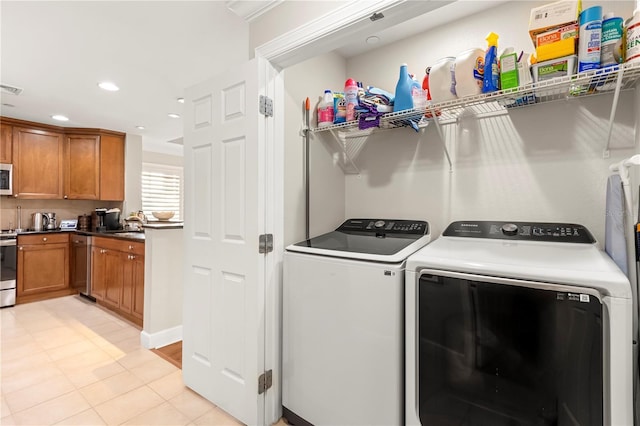
<svg viewBox="0 0 640 426">
<path fill-rule="evenodd" d="M 291 424 L 404 422 L 404 268 L 424 221 L 350 219 L 287 247 L 282 405 Z"/>
</svg>

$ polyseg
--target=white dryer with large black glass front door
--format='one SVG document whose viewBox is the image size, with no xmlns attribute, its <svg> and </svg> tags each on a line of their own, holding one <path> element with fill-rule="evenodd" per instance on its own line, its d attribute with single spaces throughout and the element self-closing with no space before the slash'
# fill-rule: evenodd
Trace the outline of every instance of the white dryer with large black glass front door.
<svg viewBox="0 0 640 426">
<path fill-rule="evenodd" d="M 454 222 L 409 257 L 407 424 L 633 425 L 631 287 L 594 243 Z"/>
</svg>

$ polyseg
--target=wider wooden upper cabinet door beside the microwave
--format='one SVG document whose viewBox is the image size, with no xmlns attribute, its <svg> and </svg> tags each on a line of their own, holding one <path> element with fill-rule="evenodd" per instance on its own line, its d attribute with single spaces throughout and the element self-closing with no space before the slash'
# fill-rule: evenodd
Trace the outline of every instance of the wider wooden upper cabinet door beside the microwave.
<svg viewBox="0 0 640 426">
<path fill-rule="evenodd" d="M 62 198 L 64 136 L 13 128 L 13 193 L 18 198 Z"/>
</svg>

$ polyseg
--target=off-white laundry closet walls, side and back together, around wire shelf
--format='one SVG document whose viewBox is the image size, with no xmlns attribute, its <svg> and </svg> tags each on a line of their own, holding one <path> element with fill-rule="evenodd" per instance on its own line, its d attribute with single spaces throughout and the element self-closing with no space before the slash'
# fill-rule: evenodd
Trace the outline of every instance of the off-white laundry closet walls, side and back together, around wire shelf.
<svg viewBox="0 0 640 426">
<path fill-rule="evenodd" d="M 330 52 L 286 68 L 285 243 L 304 238 L 301 105 L 306 97 L 315 127 L 324 90 L 340 90 L 348 78 L 393 92 L 400 64 L 407 63 L 421 81 L 425 68 L 440 58 L 484 49 L 491 31 L 500 35 L 498 51 L 532 52 L 528 19 L 531 8 L 544 3 L 502 2 L 355 57 Z M 583 10 L 595 4 L 584 1 Z M 602 6 L 628 17 L 635 2 Z M 455 220 L 569 222 L 586 226 L 603 247 L 609 165 L 636 154 L 640 140 L 640 90 L 635 88 L 620 94 L 608 143 L 613 99 L 612 92 L 567 94 L 563 100 L 482 117 L 470 109 L 441 125 L 444 141 L 434 122 L 418 132 L 404 127 L 347 135 L 344 145 L 336 131 L 312 132 L 310 234 L 353 217 L 426 220 L 433 236 Z M 345 163 L 342 147 L 348 144 L 358 152 Z"/>
</svg>

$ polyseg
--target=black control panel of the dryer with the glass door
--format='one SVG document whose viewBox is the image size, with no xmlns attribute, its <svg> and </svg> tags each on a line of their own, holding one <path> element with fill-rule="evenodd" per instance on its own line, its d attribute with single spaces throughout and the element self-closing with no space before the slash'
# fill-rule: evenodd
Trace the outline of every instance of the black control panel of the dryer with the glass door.
<svg viewBox="0 0 640 426">
<path fill-rule="evenodd" d="M 587 228 L 574 223 L 459 221 L 451 223 L 442 235 L 558 243 L 596 242 Z"/>
</svg>

